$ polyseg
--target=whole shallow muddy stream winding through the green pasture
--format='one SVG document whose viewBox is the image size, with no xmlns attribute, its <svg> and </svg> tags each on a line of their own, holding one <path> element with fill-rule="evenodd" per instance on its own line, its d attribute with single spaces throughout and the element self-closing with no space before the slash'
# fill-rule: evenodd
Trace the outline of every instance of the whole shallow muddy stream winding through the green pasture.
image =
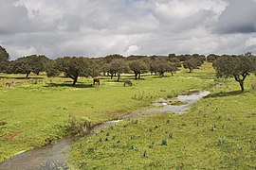
<svg viewBox="0 0 256 170">
<path fill-rule="evenodd" d="M 121 119 L 127 119 L 131 117 L 139 117 L 148 115 L 151 113 L 185 113 L 191 106 L 197 102 L 200 98 L 208 95 L 210 92 L 198 92 L 190 94 L 181 94 L 177 96 L 177 100 L 182 102 L 182 105 L 174 105 L 173 99 L 159 99 L 153 105 L 155 108 L 149 110 L 138 110 L 132 114 L 121 117 Z M 118 123 L 117 121 L 109 121 L 103 123 L 97 127 L 94 127 L 90 133 L 84 137 L 88 137 L 93 133 L 101 131 L 104 127 L 109 127 Z M 40 148 L 36 148 L 13 158 L 0 163 L 0 170 L 34 170 L 34 169 L 67 169 L 65 162 L 69 157 L 69 150 L 71 143 L 79 140 L 81 137 L 70 137 L 59 141 L 56 144 L 50 144 Z"/>
</svg>

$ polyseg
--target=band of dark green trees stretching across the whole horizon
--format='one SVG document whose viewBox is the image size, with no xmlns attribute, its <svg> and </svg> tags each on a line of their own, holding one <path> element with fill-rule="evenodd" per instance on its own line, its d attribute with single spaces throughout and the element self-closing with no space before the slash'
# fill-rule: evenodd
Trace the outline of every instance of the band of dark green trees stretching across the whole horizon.
<svg viewBox="0 0 256 170">
<path fill-rule="evenodd" d="M 133 73 L 135 79 L 141 78 L 141 74 L 164 76 L 165 73 L 174 73 L 179 67 L 198 69 L 204 61 L 212 62 L 216 70 L 216 76 L 232 76 L 239 82 L 241 90 L 244 91 L 244 80 L 250 73 L 256 72 L 255 57 L 251 53 L 245 55 L 222 55 L 210 54 L 208 56 L 175 55 L 168 56 L 129 56 L 123 57 L 119 54 L 108 55 L 101 58 L 64 57 L 48 59 L 44 55 L 31 55 L 9 61 L 9 53 L 0 46 L 0 73 L 39 75 L 46 72 L 47 76 L 64 76 L 72 78 L 73 85 L 79 76 L 110 76 L 112 79 L 125 73 Z"/>
</svg>

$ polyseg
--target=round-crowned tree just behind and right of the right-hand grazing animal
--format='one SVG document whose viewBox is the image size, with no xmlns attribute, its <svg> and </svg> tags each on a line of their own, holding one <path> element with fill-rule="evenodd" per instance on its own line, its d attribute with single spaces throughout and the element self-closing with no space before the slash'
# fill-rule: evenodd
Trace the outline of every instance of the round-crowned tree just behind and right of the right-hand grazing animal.
<svg viewBox="0 0 256 170">
<path fill-rule="evenodd" d="M 146 73 L 148 65 L 142 60 L 133 60 L 129 63 L 130 69 L 134 72 L 135 78 L 139 79 L 142 73 Z"/>
</svg>

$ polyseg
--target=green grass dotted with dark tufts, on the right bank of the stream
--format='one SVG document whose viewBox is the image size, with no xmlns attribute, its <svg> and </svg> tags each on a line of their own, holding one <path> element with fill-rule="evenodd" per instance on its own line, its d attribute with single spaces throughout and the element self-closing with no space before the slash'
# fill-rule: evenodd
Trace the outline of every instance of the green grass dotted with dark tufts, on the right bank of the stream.
<svg viewBox="0 0 256 170">
<path fill-rule="evenodd" d="M 195 85 L 212 76 L 205 65 L 174 79 Z M 245 93 L 233 79 L 216 82 L 189 113 L 124 120 L 80 140 L 70 164 L 80 169 L 255 169 L 255 76 L 247 78 Z"/>
</svg>

